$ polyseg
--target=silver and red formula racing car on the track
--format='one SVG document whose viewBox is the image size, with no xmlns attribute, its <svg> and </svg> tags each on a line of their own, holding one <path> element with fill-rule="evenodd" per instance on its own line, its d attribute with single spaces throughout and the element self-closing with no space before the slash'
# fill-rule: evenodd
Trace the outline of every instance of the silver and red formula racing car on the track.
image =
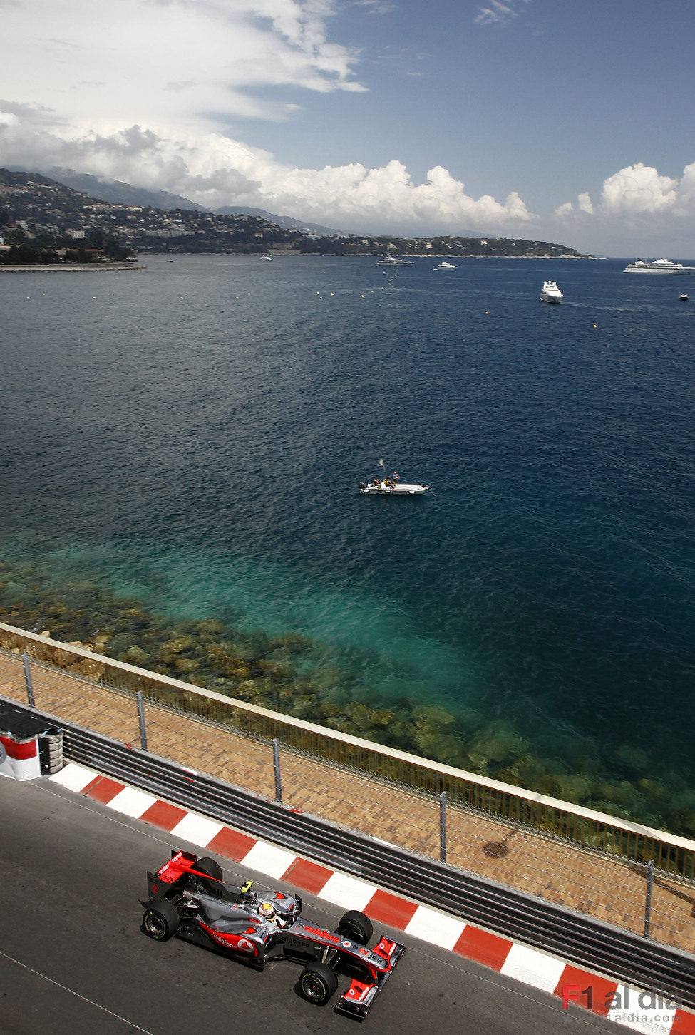
<svg viewBox="0 0 695 1035">
<path fill-rule="evenodd" d="M 357 910 L 327 930 L 301 918 L 299 895 L 251 889 L 251 881 L 241 887 L 226 884 L 214 859 L 173 851 L 156 874 L 148 871 L 145 933 L 155 941 L 177 935 L 259 970 L 271 959 L 296 959 L 304 965 L 299 988 L 311 1003 L 329 1001 L 338 986 L 336 971 L 343 970 L 352 982 L 335 1009 L 363 1021 L 405 947 L 382 935 L 373 949 L 367 948 L 373 928 Z"/>
</svg>

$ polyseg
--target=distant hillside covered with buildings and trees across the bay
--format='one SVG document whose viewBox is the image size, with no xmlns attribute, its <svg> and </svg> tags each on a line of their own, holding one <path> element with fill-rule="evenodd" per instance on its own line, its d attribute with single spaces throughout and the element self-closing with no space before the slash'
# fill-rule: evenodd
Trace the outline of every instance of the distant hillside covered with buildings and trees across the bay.
<svg viewBox="0 0 695 1035">
<path fill-rule="evenodd" d="M 124 262 L 139 254 L 579 258 L 546 241 L 392 238 L 290 229 L 265 216 L 104 202 L 37 173 L 0 169 L 0 265 Z"/>
</svg>

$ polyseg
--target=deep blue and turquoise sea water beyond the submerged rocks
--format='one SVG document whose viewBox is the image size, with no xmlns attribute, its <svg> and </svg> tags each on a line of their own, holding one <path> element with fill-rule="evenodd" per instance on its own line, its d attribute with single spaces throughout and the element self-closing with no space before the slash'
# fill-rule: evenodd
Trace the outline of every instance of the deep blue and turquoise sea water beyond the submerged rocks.
<svg viewBox="0 0 695 1035">
<path fill-rule="evenodd" d="M 0 275 L 0 553 L 689 781 L 695 277 L 437 261 Z"/>
</svg>

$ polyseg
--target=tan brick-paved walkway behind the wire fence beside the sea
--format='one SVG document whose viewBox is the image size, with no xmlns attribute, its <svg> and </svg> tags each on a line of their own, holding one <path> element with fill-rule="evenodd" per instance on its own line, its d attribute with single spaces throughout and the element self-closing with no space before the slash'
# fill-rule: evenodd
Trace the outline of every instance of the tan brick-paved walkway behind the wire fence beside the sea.
<svg viewBox="0 0 695 1035">
<path fill-rule="evenodd" d="M 35 706 L 140 746 L 135 703 L 70 674 L 32 663 Z M 0 652 L 0 694 L 26 703 L 19 655 Z M 267 798 L 275 797 L 272 749 L 165 708 L 146 705 L 148 748 Z M 282 800 L 292 808 L 440 857 L 440 804 L 376 779 L 281 750 Z M 641 935 L 646 885 L 638 867 L 483 816 L 449 807 L 447 862 Z M 652 937 L 695 952 L 695 886 L 658 875 Z"/>
</svg>

